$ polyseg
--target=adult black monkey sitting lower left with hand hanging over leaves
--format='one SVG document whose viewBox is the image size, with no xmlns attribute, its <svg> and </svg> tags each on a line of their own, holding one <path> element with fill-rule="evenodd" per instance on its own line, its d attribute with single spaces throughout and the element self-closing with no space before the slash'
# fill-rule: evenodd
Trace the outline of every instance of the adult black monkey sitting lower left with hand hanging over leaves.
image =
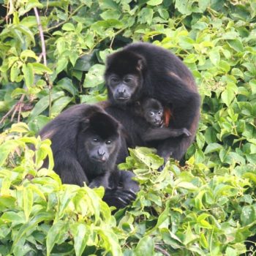
<svg viewBox="0 0 256 256">
<path fill-rule="evenodd" d="M 134 199 L 138 184 L 132 180 L 133 173 L 116 167 L 120 124 L 102 108 L 75 105 L 50 121 L 39 135 L 51 140 L 54 170 L 64 183 L 103 186 L 103 199 L 117 208 Z"/>
</svg>

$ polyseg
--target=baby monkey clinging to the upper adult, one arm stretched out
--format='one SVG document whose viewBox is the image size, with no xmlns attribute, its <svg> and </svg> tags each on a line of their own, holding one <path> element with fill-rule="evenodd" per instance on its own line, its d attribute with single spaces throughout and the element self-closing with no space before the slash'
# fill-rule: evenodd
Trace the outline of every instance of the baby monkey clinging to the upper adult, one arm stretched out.
<svg viewBox="0 0 256 256">
<path fill-rule="evenodd" d="M 157 99 L 143 98 L 139 102 L 136 102 L 135 114 L 149 124 L 149 127 L 148 125 L 143 126 L 144 130 L 141 134 L 145 142 L 176 138 L 181 135 L 184 137 L 191 136 L 187 128 L 172 129 L 164 126 L 164 107 Z"/>
</svg>

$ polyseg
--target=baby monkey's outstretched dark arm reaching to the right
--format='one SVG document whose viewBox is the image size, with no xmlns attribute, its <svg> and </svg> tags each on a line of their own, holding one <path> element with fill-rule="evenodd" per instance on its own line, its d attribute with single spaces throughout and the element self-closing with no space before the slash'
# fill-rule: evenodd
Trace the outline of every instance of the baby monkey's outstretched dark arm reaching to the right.
<svg viewBox="0 0 256 256">
<path fill-rule="evenodd" d="M 184 135 L 189 137 L 191 133 L 186 128 L 181 129 L 171 129 L 171 128 L 149 128 L 146 132 L 143 132 L 142 138 L 144 141 L 152 140 L 165 140 L 167 138 L 175 138 L 178 136 Z"/>
</svg>

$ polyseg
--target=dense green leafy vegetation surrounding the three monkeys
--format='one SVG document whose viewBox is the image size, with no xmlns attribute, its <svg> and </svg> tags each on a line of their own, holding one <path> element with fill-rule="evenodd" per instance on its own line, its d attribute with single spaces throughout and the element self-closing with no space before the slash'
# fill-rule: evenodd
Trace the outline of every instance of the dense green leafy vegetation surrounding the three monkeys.
<svg viewBox="0 0 256 256">
<path fill-rule="evenodd" d="M 240 255 L 256 233 L 256 1 L 0 1 L 0 255 Z M 184 166 L 130 150 L 137 200 L 61 184 L 35 137 L 106 98 L 108 53 L 142 40 L 191 69 L 202 97 Z M 36 151 L 31 150 L 34 145 Z M 41 168 L 49 155 L 49 170 Z"/>
</svg>

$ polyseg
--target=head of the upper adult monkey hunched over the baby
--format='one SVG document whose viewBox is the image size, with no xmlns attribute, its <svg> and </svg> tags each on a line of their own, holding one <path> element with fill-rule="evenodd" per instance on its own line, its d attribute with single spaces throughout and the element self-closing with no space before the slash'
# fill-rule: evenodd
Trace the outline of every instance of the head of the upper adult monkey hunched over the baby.
<svg viewBox="0 0 256 256">
<path fill-rule="evenodd" d="M 108 99 L 113 104 L 127 105 L 140 97 L 146 60 L 129 50 L 108 56 L 105 81 Z"/>
</svg>

